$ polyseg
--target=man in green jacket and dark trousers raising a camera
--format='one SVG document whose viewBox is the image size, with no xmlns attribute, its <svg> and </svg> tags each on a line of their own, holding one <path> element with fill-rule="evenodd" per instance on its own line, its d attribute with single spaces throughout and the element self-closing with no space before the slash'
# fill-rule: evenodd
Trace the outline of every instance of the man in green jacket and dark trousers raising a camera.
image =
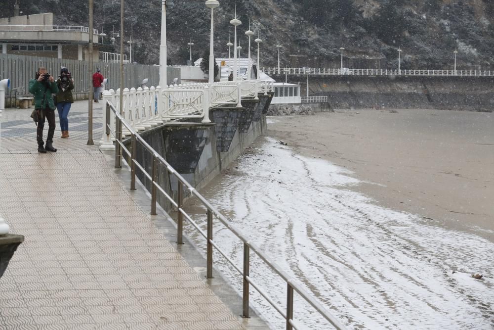
<svg viewBox="0 0 494 330">
<path fill-rule="evenodd" d="M 39 121 L 38 130 L 36 132 L 36 140 L 38 141 L 38 152 L 46 153 L 46 151 L 56 152 L 53 147 L 53 135 L 55 134 L 55 104 L 51 94 L 58 93 L 58 87 L 53 76 L 46 72 L 46 68 L 39 67 L 36 73 L 36 79 L 29 81 L 29 93 L 34 95 L 35 110 L 38 111 Z M 44 121 L 48 120 L 48 137 L 46 145 L 43 142 Z"/>
</svg>

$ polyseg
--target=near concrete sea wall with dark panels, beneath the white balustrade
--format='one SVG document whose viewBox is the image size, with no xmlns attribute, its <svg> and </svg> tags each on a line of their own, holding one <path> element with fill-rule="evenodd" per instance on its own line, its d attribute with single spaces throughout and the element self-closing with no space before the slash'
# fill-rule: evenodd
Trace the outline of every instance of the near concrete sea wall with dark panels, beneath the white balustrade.
<svg viewBox="0 0 494 330">
<path fill-rule="evenodd" d="M 173 122 L 140 133 L 140 136 L 196 189 L 206 186 L 228 167 L 254 140 L 267 130 L 266 112 L 272 94 L 259 100 L 242 101 L 243 108 L 219 107 L 209 111 L 211 123 Z M 130 140 L 124 141 L 130 148 Z M 152 154 L 137 147 L 136 159 L 148 173 Z M 128 157 L 127 157 L 127 163 Z M 137 171 L 137 177 L 150 191 L 151 182 Z M 177 193 L 177 180 L 164 166 L 158 167 L 158 183 L 170 196 Z M 159 204 L 167 211 L 172 205 L 162 194 Z"/>
</svg>

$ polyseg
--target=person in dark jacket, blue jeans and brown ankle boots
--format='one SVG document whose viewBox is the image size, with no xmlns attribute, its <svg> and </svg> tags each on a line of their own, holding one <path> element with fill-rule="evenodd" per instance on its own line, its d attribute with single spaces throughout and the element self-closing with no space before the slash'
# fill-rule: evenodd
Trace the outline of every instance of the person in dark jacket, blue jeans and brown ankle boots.
<svg viewBox="0 0 494 330">
<path fill-rule="evenodd" d="M 62 131 L 62 139 L 69 137 L 69 115 L 70 107 L 74 103 L 72 90 L 74 89 L 74 79 L 65 67 L 60 71 L 60 76 L 57 79 L 58 93 L 56 96 L 56 106 L 58 116 L 60 117 L 60 130 Z"/>
</svg>

